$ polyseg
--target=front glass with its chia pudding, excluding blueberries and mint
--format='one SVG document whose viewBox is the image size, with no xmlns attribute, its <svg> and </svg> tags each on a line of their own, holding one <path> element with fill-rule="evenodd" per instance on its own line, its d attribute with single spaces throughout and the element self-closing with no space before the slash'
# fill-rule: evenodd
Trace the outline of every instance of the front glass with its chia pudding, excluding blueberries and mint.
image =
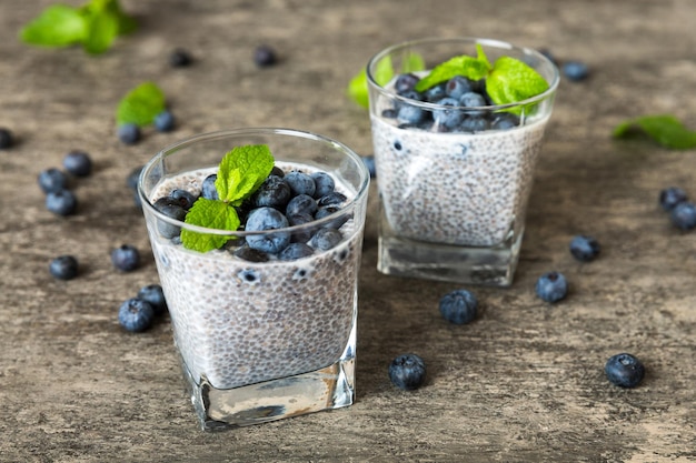
<svg viewBox="0 0 696 463">
<path fill-rule="evenodd" d="M 247 144 L 267 144 L 286 172 L 328 173 L 347 198 L 340 210 L 306 224 L 246 232 L 189 225 L 153 205 L 175 187 L 198 194 L 225 153 Z M 145 165 L 138 191 L 175 345 L 202 429 L 256 424 L 354 402 L 368 183 L 369 172 L 349 148 L 287 129 L 201 134 L 163 149 Z M 267 261 L 256 262 L 258 255 L 236 255 L 255 239 L 285 234 L 307 241 L 322 228 L 338 229 L 341 241 L 326 251 L 315 248 L 306 258 L 267 255 Z M 181 245 L 180 229 L 235 239 L 200 253 Z"/>
</svg>

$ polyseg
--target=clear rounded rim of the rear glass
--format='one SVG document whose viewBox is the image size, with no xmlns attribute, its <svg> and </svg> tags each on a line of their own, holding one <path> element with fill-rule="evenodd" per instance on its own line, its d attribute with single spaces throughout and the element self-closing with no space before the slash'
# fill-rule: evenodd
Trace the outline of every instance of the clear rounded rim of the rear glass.
<svg viewBox="0 0 696 463">
<path fill-rule="evenodd" d="M 407 49 L 410 47 L 427 46 L 427 44 L 432 44 L 432 43 L 448 43 L 448 42 L 469 43 L 469 44 L 480 43 L 481 46 L 488 46 L 488 47 L 497 48 L 500 50 L 518 50 L 526 56 L 534 57 L 536 59 L 539 59 L 550 64 L 550 69 L 553 70 L 551 81 L 547 82 L 548 89 L 546 89 L 544 92 L 539 94 L 535 94 L 534 97 L 527 98 L 525 100 L 515 101 L 515 102 L 505 103 L 505 104 L 487 104 L 483 107 L 460 107 L 460 105 L 456 107 L 456 105 L 437 104 L 437 103 L 431 103 L 428 101 L 419 101 L 419 100 L 414 100 L 407 97 L 402 97 L 400 94 L 397 94 L 392 90 L 386 89 L 385 87 L 382 87 L 375 80 L 375 77 L 371 72 L 374 64 L 377 63 L 382 58 L 385 58 L 386 56 L 391 54 L 395 51 L 398 51 L 400 49 Z M 548 57 L 544 56 L 538 50 L 535 50 L 528 47 L 515 46 L 504 40 L 487 39 L 487 38 L 479 38 L 479 37 L 450 37 L 450 38 L 429 37 L 425 39 L 415 39 L 415 40 L 407 40 L 404 42 L 399 42 L 375 53 L 367 62 L 366 74 L 367 74 L 368 84 L 372 85 L 385 97 L 392 98 L 402 102 L 408 102 L 409 104 L 412 104 L 415 107 L 420 107 L 420 108 L 428 109 L 428 110 L 440 110 L 440 109 L 446 108 L 448 110 L 459 109 L 463 111 L 494 112 L 494 111 L 501 111 L 501 110 L 516 108 L 516 107 L 524 107 L 528 104 L 539 103 L 548 98 L 551 98 L 554 93 L 556 92 L 558 84 L 560 83 L 560 71 L 558 70 L 558 67 L 550 59 L 548 59 Z"/>
</svg>

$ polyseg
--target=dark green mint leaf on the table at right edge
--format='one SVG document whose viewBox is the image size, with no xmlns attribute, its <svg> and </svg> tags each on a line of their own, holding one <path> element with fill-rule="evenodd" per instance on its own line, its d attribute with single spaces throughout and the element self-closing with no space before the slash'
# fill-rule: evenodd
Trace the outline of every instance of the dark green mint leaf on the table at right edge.
<svg viewBox="0 0 696 463">
<path fill-rule="evenodd" d="M 643 115 L 618 124 L 614 138 L 628 138 L 638 131 L 645 132 L 659 145 L 673 150 L 696 148 L 696 131 L 688 130 L 674 115 Z"/>
</svg>

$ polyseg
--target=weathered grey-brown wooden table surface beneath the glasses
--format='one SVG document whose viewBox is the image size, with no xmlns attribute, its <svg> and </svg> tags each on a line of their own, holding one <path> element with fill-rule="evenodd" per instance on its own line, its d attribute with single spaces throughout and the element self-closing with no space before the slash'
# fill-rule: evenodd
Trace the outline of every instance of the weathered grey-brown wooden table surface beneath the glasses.
<svg viewBox="0 0 696 463">
<path fill-rule="evenodd" d="M 50 3 L 0 3 L 0 125 L 18 140 L 0 151 L 0 461 L 696 461 L 696 231 L 677 230 L 657 203 L 670 185 L 696 197 L 696 150 L 610 137 L 654 113 L 696 128 L 696 2 L 122 0 L 140 28 L 99 57 L 20 43 Z M 169 143 L 225 128 L 305 129 L 370 154 L 367 113 L 346 84 L 374 52 L 428 36 L 497 38 L 590 67 L 558 90 L 513 286 L 469 288 L 481 315 L 455 326 L 437 304 L 460 285 L 379 274 L 372 184 L 356 404 L 201 432 L 169 322 L 130 334 L 117 321 L 122 301 L 158 281 L 126 177 Z M 261 43 L 276 67 L 255 66 Z M 191 67 L 169 66 L 176 47 Z M 127 147 L 116 105 L 147 80 L 179 124 Z M 73 184 L 78 212 L 59 218 L 37 175 L 73 149 L 95 172 Z M 598 260 L 571 258 L 578 233 L 597 238 Z M 141 269 L 113 269 L 123 243 L 147 255 Z M 49 274 L 60 254 L 79 259 L 77 279 Z M 554 305 L 534 293 L 549 270 L 570 284 Z M 427 363 L 418 391 L 387 376 L 405 352 Z M 605 379 L 619 352 L 645 363 L 640 386 Z"/>
</svg>

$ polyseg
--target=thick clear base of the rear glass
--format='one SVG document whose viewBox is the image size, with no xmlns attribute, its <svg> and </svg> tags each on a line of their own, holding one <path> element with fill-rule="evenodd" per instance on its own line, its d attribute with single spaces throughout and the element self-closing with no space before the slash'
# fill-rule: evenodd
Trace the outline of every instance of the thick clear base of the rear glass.
<svg viewBox="0 0 696 463">
<path fill-rule="evenodd" d="M 524 230 L 511 230 L 503 243 L 469 248 L 399 236 L 380 207 L 377 270 L 395 276 L 509 286 L 513 283 Z"/>
</svg>

